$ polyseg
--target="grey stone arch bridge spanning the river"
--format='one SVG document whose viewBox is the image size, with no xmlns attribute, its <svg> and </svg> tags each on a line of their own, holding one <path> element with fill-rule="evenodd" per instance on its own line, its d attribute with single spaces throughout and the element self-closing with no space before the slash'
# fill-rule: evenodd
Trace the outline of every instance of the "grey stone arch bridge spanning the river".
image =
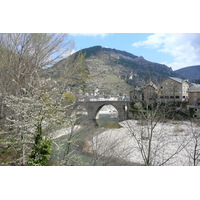
<svg viewBox="0 0 200 200">
<path fill-rule="evenodd" d="M 118 111 L 119 121 L 129 118 L 130 101 L 84 101 L 76 102 L 76 105 L 83 106 L 88 115 L 88 120 L 95 120 L 99 110 L 105 105 L 112 105 Z"/>
</svg>

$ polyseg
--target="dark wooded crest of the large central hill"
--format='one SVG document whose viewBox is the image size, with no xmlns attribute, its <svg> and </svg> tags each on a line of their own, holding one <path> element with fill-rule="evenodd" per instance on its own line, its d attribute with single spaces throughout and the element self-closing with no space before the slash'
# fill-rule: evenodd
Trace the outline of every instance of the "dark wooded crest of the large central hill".
<svg viewBox="0 0 200 200">
<path fill-rule="evenodd" d="M 76 52 L 76 55 L 83 53 L 86 60 L 98 59 L 109 66 L 122 67 L 122 77 L 129 79 L 131 74 L 137 79 L 153 79 L 159 82 L 163 77 L 174 75 L 171 68 L 163 64 L 153 63 L 126 51 L 120 51 L 101 46 L 94 46 Z"/>
</svg>

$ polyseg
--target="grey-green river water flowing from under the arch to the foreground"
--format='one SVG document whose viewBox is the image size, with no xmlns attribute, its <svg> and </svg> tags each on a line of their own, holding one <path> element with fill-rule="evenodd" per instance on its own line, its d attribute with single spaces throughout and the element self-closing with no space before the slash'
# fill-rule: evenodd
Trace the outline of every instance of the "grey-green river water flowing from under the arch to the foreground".
<svg viewBox="0 0 200 200">
<path fill-rule="evenodd" d="M 57 147 L 53 150 L 52 154 L 52 163 L 54 165 L 61 165 L 63 162 L 64 165 L 105 165 L 107 158 L 101 157 L 98 162 L 94 163 L 95 155 L 91 151 L 91 147 L 88 145 L 91 144 L 92 137 L 98 134 L 101 134 L 105 129 L 116 129 L 120 128 L 119 119 L 116 114 L 99 114 L 96 119 L 98 126 L 92 124 L 82 125 L 81 129 L 77 130 L 72 137 L 72 144 L 70 145 L 70 153 L 66 154 L 67 149 L 67 140 L 69 135 L 63 135 L 56 139 Z M 66 164 L 66 159 L 68 162 Z M 110 165 L 119 165 L 118 160 L 112 160 Z"/>
</svg>

